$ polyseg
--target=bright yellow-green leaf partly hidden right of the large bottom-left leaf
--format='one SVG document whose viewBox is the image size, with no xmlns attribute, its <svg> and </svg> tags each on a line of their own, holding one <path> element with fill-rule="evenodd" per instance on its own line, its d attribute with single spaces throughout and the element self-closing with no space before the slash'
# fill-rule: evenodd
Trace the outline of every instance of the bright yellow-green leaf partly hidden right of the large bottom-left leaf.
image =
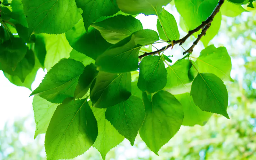
<svg viewBox="0 0 256 160">
<path fill-rule="evenodd" d="M 106 109 L 92 107 L 92 111 L 98 123 L 98 136 L 93 147 L 95 147 L 105 160 L 108 151 L 120 144 L 124 137 L 105 118 Z"/>
</svg>

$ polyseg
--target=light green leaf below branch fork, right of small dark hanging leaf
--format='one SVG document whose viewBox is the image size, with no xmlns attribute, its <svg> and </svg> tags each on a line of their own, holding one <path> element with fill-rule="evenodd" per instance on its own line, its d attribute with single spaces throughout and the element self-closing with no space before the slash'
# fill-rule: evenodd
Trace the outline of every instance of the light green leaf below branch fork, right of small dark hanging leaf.
<svg viewBox="0 0 256 160">
<path fill-rule="evenodd" d="M 189 60 L 179 60 L 175 62 L 172 66 L 168 66 L 167 69 L 167 84 L 166 88 L 179 87 L 191 82 L 189 78 L 189 69 L 191 68 L 191 63 Z"/>
</svg>

